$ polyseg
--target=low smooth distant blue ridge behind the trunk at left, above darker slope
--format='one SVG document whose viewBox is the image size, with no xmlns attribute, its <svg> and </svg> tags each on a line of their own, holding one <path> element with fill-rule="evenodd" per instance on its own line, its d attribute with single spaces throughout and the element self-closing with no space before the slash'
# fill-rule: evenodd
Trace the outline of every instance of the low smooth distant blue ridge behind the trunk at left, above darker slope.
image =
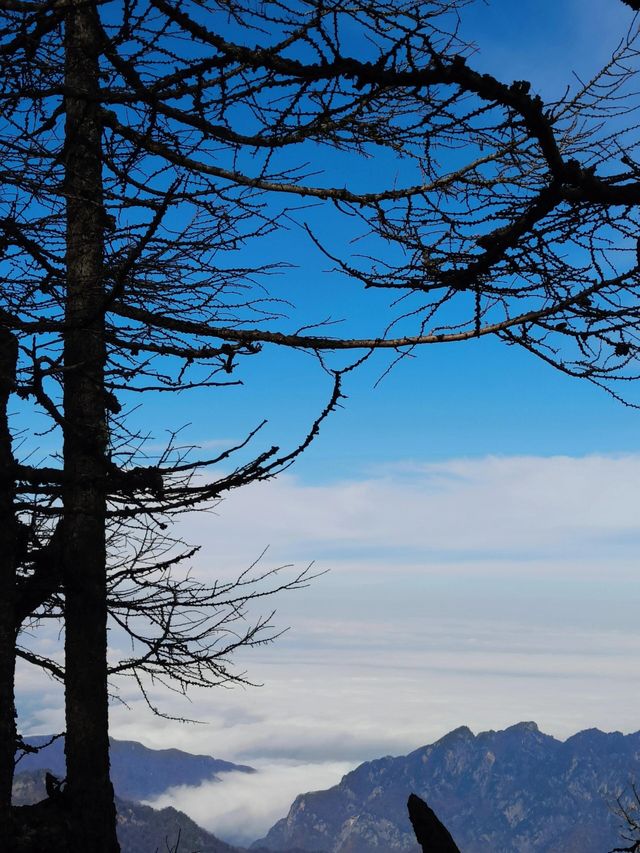
<svg viewBox="0 0 640 853">
<path fill-rule="evenodd" d="M 28 738 L 41 746 L 51 738 Z M 210 781 L 219 773 L 232 770 L 255 773 L 253 767 L 232 764 L 210 755 L 191 755 L 179 749 L 148 749 L 141 743 L 110 739 L 111 779 L 116 794 L 125 800 L 146 800 L 175 785 L 198 785 Z M 50 770 L 55 776 L 65 775 L 64 738 L 58 738 L 40 752 L 25 755 L 18 771 Z"/>
</svg>

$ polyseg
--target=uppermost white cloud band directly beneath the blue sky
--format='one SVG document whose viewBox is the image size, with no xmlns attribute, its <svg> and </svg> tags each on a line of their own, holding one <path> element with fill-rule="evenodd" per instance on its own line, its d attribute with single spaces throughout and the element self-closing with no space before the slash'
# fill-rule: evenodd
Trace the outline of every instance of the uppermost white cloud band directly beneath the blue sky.
<svg viewBox="0 0 640 853">
<path fill-rule="evenodd" d="M 323 486 L 283 476 L 232 493 L 183 529 L 204 545 L 199 569 L 212 574 L 242 568 L 266 545 L 272 561 L 324 568 L 364 556 L 368 570 L 435 555 L 557 563 L 594 547 L 610 558 L 640 538 L 639 484 L 640 456 L 459 459 Z"/>
</svg>

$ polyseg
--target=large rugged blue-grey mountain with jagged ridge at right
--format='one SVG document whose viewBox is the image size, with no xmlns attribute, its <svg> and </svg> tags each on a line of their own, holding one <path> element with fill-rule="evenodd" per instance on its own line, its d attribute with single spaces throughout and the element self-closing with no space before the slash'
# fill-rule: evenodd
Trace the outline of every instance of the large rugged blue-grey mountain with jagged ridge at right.
<svg viewBox="0 0 640 853">
<path fill-rule="evenodd" d="M 426 800 L 463 853 L 606 853 L 616 797 L 640 781 L 640 732 L 589 729 L 562 742 L 535 723 L 459 728 L 407 756 L 361 764 L 301 794 L 254 849 L 419 853 L 407 798 Z"/>
</svg>

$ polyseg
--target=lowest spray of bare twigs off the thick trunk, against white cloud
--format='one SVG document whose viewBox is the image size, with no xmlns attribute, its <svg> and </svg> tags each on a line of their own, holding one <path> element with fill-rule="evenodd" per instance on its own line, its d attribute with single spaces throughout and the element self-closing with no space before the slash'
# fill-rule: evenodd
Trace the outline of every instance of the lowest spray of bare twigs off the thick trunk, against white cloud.
<svg viewBox="0 0 640 853">
<path fill-rule="evenodd" d="M 118 698 L 123 679 L 133 680 L 148 707 L 169 716 L 153 703 L 150 688 L 162 684 L 186 695 L 192 687 L 251 685 L 233 665 L 235 652 L 270 643 L 282 633 L 273 609 L 255 615 L 252 605 L 302 589 L 317 576 L 312 566 L 298 571 L 290 565 L 265 568 L 265 552 L 238 576 L 208 584 L 190 571 L 197 552 L 148 523 L 127 519 L 109 525 L 107 610 L 113 648 L 107 672 L 112 698 Z M 35 577 L 35 572 L 29 574 L 29 579 Z M 16 656 L 64 683 L 64 665 L 30 642 L 38 627 L 51 623 L 58 633 L 64 628 L 61 586 L 50 590 L 46 600 L 41 596 L 38 606 L 32 600 Z M 22 743 L 21 751 L 29 748 Z"/>
</svg>

